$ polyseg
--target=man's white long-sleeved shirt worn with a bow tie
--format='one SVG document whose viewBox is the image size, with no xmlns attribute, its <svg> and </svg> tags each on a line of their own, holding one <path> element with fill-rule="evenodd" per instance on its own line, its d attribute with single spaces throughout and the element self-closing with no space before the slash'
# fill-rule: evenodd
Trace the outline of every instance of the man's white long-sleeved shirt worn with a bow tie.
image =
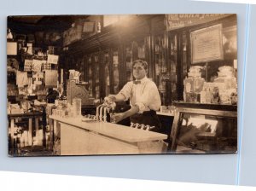
<svg viewBox="0 0 256 191">
<path fill-rule="evenodd" d="M 131 107 L 138 106 L 139 112 L 160 109 L 161 100 L 159 91 L 154 82 L 147 77 L 139 80 L 140 84 L 134 84 L 133 81 L 125 84 L 119 94 L 125 96 L 125 100 L 130 98 Z"/>
</svg>

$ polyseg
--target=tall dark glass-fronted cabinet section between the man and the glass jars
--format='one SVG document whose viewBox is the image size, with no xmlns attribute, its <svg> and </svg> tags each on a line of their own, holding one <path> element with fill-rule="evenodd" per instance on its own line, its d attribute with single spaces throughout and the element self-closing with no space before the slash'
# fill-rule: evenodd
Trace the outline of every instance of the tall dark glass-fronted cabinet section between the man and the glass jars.
<svg viewBox="0 0 256 191">
<path fill-rule="evenodd" d="M 182 38 L 177 32 L 156 36 L 154 42 L 155 83 L 160 91 L 162 105 L 171 106 L 172 101 L 182 100 L 183 97 L 179 94 L 182 83 L 178 79 L 187 73 L 187 38 L 183 39 L 183 49 L 179 45 Z M 182 64 L 177 65 L 179 62 Z"/>
</svg>

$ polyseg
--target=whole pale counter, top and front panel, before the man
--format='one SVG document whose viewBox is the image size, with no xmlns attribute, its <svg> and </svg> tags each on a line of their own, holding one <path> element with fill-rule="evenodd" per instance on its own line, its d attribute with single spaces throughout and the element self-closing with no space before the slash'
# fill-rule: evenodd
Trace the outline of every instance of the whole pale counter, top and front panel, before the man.
<svg viewBox="0 0 256 191">
<path fill-rule="evenodd" d="M 119 124 L 49 116 L 61 128 L 61 155 L 163 153 L 167 136 Z M 52 123 L 50 123 L 52 124 Z"/>
</svg>

